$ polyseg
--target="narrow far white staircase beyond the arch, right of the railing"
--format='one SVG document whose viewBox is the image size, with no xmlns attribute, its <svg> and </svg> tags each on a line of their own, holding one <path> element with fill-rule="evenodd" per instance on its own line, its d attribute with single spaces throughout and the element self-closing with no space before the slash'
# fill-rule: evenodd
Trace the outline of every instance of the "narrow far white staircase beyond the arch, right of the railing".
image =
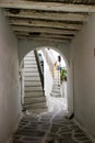
<svg viewBox="0 0 95 143">
<path fill-rule="evenodd" d="M 61 87 L 60 87 L 60 72 L 57 70 L 57 61 L 54 56 L 54 53 L 50 50 L 43 50 L 44 56 L 46 58 L 46 62 L 49 67 L 49 72 L 51 73 L 52 76 L 52 88 L 50 96 L 51 97 L 61 97 Z M 57 65 L 55 65 L 57 64 Z"/>
</svg>

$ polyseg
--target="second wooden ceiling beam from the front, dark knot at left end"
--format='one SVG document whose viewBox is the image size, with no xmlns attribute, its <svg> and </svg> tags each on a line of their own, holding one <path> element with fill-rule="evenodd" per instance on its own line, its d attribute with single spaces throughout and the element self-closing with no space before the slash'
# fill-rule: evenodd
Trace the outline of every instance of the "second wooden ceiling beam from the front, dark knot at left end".
<svg viewBox="0 0 95 143">
<path fill-rule="evenodd" d="M 15 10 L 16 12 L 16 10 Z M 56 20 L 56 21 L 87 21 L 88 14 L 83 13 L 55 13 L 55 12 L 41 12 L 32 10 L 20 10 L 19 13 L 12 13 L 12 9 L 4 12 L 8 16 L 13 18 L 29 18 L 29 19 L 41 19 L 41 20 Z"/>
</svg>

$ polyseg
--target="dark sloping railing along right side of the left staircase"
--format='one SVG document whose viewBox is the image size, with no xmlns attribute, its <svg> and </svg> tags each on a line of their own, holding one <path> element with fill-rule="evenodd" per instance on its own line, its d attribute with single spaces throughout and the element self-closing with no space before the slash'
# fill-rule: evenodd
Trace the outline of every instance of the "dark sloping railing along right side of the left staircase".
<svg viewBox="0 0 95 143">
<path fill-rule="evenodd" d="M 41 87 L 43 87 L 43 91 L 44 91 L 44 73 L 43 73 L 40 61 L 39 61 L 39 57 L 38 57 L 38 54 L 37 54 L 36 50 L 34 51 L 34 54 L 35 54 L 35 58 L 36 58 L 36 62 L 37 62 L 37 67 L 38 67 L 40 81 L 41 81 Z"/>
</svg>

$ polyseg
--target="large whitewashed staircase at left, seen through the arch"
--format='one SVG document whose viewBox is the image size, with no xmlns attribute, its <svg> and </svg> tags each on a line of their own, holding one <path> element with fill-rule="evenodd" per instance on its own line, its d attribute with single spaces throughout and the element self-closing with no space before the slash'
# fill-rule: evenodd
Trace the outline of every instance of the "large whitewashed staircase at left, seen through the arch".
<svg viewBox="0 0 95 143">
<path fill-rule="evenodd" d="M 47 110 L 39 70 L 35 53 L 31 52 L 24 58 L 24 109 L 32 112 Z"/>
</svg>

